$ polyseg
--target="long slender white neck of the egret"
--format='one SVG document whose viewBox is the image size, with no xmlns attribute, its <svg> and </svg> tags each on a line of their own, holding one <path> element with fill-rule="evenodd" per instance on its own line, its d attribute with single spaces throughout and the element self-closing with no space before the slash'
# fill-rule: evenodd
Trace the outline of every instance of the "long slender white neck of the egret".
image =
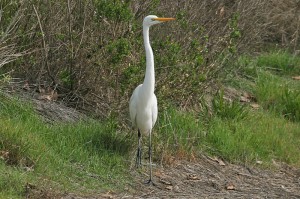
<svg viewBox="0 0 300 199">
<path fill-rule="evenodd" d="M 144 45 L 146 51 L 146 73 L 143 83 L 145 94 L 154 93 L 155 73 L 154 73 L 154 56 L 149 40 L 149 26 L 143 26 Z"/>
</svg>

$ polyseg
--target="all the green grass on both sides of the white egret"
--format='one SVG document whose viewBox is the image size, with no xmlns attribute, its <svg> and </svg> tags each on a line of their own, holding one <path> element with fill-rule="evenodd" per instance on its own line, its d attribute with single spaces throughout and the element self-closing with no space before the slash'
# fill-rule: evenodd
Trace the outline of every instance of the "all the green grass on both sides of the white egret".
<svg viewBox="0 0 300 199">
<path fill-rule="evenodd" d="M 260 60 L 263 56 L 267 64 Z M 278 61 L 281 54 L 271 54 L 271 61 L 263 56 L 243 57 L 239 67 L 251 81 L 233 81 L 255 95 L 259 110 L 228 103 L 222 93 L 215 96 L 210 116 L 161 110 L 154 134 L 155 161 L 172 163 L 174 156 L 193 158 L 205 152 L 242 164 L 259 160 L 268 166 L 274 159 L 300 167 L 300 82 L 290 78 L 299 74 L 300 61 L 285 54 L 283 63 L 289 63 L 290 70 Z M 272 66 L 271 72 L 266 65 Z M 276 67 L 280 70 L 274 73 Z M 136 140 L 126 136 L 128 129 L 118 129 L 115 119 L 47 125 L 30 106 L 0 98 L 1 198 L 24 197 L 28 183 L 41 190 L 90 193 L 122 190 L 131 181 L 126 170 Z"/>
</svg>

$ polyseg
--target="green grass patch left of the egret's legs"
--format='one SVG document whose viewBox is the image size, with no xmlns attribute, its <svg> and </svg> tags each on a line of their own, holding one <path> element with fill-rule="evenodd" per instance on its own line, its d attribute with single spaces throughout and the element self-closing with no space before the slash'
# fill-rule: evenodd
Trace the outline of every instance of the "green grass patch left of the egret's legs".
<svg viewBox="0 0 300 199">
<path fill-rule="evenodd" d="M 32 108 L 1 95 L 0 193 L 23 198 L 26 184 L 58 192 L 122 190 L 131 141 L 111 121 L 48 125 Z M 5 197 L 4 197 L 5 198 Z"/>
</svg>

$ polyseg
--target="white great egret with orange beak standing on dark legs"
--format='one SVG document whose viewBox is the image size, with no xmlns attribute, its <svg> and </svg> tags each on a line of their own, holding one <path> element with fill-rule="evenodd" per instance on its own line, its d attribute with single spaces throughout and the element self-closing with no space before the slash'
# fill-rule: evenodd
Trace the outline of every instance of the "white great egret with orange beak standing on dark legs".
<svg viewBox="0 0 300 199">
<path fill-rule="evenodd" d="M 143 84 L 135 88 L 130 98 L 129 111 L 133 127 L 138 129 L 138 149 L 136 157 L 136 166 L 141 165 L 141 134 L 149 135 L 149 166 L 150 177 L 147 183 L 152 181 L 152 143 L 151 132 L 157 120 L 157 99 L 154 94 L 155 75 L 154 75 L 154 56 L 149 40 L 149 29 L 152 25 L 165 21 L 174 20 L 174 18 L 159 18 L 155 15 L 149 15 L 143 21 L 143 36 L 146 51 L 146 73 Z"/>
</svg>

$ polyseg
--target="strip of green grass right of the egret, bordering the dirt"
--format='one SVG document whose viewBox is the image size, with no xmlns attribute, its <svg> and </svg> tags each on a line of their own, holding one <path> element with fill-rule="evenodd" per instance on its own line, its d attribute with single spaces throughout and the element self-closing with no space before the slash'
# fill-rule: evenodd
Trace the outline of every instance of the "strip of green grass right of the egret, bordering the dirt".
<svg viewBox="0 0 300 199">
<path fill-rule="evenodd" d="M 160 119 L 154 145 L 164 150 L 157 154 L 208 153 L 241 164 L 259 160 L 271 166 L 275 160 L 300 167 L 300 124 L 270 112 L 248 110 L 242 119 L 213 115 L 207 123 L 202 116 L 171 109 Z"/>
</svg>

